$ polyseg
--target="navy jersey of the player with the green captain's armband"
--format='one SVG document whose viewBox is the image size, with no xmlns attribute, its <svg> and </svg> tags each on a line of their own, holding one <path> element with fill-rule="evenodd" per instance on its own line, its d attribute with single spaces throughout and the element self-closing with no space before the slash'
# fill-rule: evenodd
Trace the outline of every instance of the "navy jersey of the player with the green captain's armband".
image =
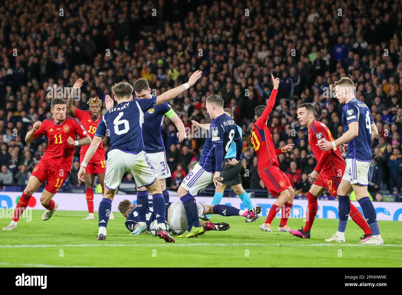
<svg viewBox="0 0 402 295">
<path fill-rule="evenodd" d="M 154 96 L 152 98 L 154 98 Z M 170 114 L 172 115 L 170 116 Z M 168 118 L 171 118 L 174 114 L 174 111 L 167 102 L 158 104 L 144 113 L 142 139 L 144 140 L 144 151 L 146 153 L 159 153 L 165 151 L 162 137 L 163 120 L 165 115 Z"/>
</svg>

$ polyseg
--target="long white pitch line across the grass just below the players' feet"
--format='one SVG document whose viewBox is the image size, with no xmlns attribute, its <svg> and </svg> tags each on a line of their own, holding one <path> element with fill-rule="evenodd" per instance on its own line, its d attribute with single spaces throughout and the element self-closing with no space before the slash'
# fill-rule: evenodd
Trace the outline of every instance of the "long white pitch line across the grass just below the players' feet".
<svg viewBox="0 0 402 295">
<path fill-rule="evenodd" d="M 66 244 L 66 245 L 0 245 L 0 248 L 49 248 L 49 247 L 187 247 L 187 246 L 288 246 L 288 247 L 328 247 L 328 246 L 347 246 L 347 247 L 364 247 L 370 245 L 361 245 L 361 244 L 343 244 L 343 243 L 332 243 L 332 244 L 206 244 L 206 243 L 197 243 L 197 244 Z M 398 244 L 385 244 L 381 245 L 381 247 L 402 247 L 402 245 Z"/>
</svg>

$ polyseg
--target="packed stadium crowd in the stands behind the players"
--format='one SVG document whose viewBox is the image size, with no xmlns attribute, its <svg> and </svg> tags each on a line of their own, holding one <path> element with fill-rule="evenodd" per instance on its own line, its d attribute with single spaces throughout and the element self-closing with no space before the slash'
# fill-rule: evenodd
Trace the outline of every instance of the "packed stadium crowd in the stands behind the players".
<svg viewBox="0 0 402 295">
<path fill-rule="evenodd" d="M 189 73 L 200 69 L 203 77 L 175 98 L 172 108 L 192 130 L 191 120 L 211 121 L 205 110 L 207 96 L 222 96 L 243 130 L 245 188 L 264 188 L 249 138 L 254 108 L 266 104 L 273 73 L 281 83 L 268 124 L 276 147 L 295 144 L 291 153 L 278 156 L 295 189 L 308 191 L 308 174 L 316 164 L 307 129 L 296 118 L 297 106 L 312 102 L 316 119 L 338 138 L 343 134 L 342 106 L 332 98 L 332 86 L 348 76 L 380 133 L 373 143 L 369 191 L 401 190 L 402 5 L 397 0 L 4 2 L 2 185 L 25 185 L 43 155 L 44 136 L 30 145 L 24 138 L 33 122 L 52 116 L 50 100 L 55 94 L 48 87 L 71 87 L 82 77 L 81 96 L 74 105 L 86 110 L 90 97 L 104 101 L 116 82 L 134 83 L 144 77 L 158 95 L 187 82 Z M 205 139 L 189 136 L 179 143 L 167 118 L 163 134 L 173 176 L 168 186 L 176 188 L 199 159 Z M 107 137 L 104 147 L 108 151 Z M 78 153 L 70 186 L 78 185 Z M 133 182 L 132 176 L 125 175 L 123 182 Z"/>
</svg>

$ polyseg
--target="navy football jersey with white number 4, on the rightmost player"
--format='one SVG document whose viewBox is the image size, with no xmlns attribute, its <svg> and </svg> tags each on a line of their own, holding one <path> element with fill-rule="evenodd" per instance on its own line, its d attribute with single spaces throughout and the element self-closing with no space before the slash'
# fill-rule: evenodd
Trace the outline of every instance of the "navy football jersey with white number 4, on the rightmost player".
<svg viewBox="0 0 402 295">
<path fill-rule="evenodd" d="M 342 124 L 345 132 L 349 130 L 348 124 L 359 122 L 359 135 L 348 142 L 346 159 L 371 161 L 371 124 L 374 123 L 370 109 L 364 102 L 352 98 L 345 104 L 342 112 Z"/>
</svg>

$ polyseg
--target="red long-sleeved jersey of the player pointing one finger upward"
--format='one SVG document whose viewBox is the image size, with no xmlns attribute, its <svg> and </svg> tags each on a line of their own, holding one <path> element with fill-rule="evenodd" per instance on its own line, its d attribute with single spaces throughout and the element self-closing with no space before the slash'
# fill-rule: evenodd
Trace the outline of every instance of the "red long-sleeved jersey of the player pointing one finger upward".
<svg viewBox="0 0 402 295">
<path fill-rule="evenodd" d="M 258 157 L 258 173 L 278 163 L 272 134 L 267 127 L 267 120 L 274 107 L 277 93 L 278 90 L 272 90 L 263 114 L 252 126 L 251 144 Z"/>
</svg>

